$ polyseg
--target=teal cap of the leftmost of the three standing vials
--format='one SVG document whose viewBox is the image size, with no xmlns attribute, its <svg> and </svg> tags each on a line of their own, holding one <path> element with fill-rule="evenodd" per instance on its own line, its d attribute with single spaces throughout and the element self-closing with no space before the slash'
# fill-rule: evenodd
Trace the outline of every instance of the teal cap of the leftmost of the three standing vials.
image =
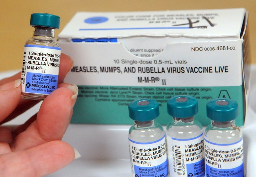
<svg viewBox="0 0 256 177">
<path fill-rule="evenodd" d="M 153 99 L 138 99 L 128 106 L 129 116 L 135 121 L 150 121 L 159 116 L 159 104 Z"/>
</svg>

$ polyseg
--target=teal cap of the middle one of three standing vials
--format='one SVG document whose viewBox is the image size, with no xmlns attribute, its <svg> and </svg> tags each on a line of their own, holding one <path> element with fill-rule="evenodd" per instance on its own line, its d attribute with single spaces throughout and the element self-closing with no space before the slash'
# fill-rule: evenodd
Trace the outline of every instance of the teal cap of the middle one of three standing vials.
<svg viewBox="0 0 256 177">
<path fill-rule="evenodd" d="M 188 118 L 198 112 L 197 99 L 192 96 L 175 96 L 167 101 L 167 112 L 175 118 Z"/>
</svg>

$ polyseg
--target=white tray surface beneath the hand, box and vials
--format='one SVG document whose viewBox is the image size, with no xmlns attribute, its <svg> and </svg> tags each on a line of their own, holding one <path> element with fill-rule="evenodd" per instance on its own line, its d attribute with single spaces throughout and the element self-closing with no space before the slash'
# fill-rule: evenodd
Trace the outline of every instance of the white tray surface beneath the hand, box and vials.
<svg viewBox="0 0 256 177">
<path fill-rule="evenodd" d="M 0 79 L 17 71 L 0 73 Z M 249 106 L 244 135 L 245 176 L 255 176 L 256 167 L 256 65 L 252 65 Z M 17 125 L 37 112 L 39 105 L 18 116 L 6 125 Z M 81 157 L 48 177 L 130 177 L 128 130 L 130 125 L 76 125 L 70 124 L 63 141 L 78 149 Z"/>
</svg>

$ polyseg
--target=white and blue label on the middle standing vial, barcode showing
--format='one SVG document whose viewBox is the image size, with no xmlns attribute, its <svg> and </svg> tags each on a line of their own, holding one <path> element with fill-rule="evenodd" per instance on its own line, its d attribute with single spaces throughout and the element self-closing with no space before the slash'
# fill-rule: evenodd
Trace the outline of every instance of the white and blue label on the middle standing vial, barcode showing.
<svg viewBox="0 0 256 177">
<path fill-rule="evenodd" d="M 204 177 L 203 133 L 190 139 L 167 136 L 170 176 Z"/>
</svg>

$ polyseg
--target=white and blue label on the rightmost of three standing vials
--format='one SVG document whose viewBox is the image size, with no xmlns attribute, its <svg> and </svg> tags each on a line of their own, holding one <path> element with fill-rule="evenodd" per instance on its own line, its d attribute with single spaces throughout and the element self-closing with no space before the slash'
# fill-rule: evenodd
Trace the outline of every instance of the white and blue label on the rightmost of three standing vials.
<svg viewBox="0 0 256 177">
<path fill-rule="evenodd" d="M 217 144 L 205 138 L 206 175 L 244 176 L 243 139 L 231 144 Z"/>
</svg>

